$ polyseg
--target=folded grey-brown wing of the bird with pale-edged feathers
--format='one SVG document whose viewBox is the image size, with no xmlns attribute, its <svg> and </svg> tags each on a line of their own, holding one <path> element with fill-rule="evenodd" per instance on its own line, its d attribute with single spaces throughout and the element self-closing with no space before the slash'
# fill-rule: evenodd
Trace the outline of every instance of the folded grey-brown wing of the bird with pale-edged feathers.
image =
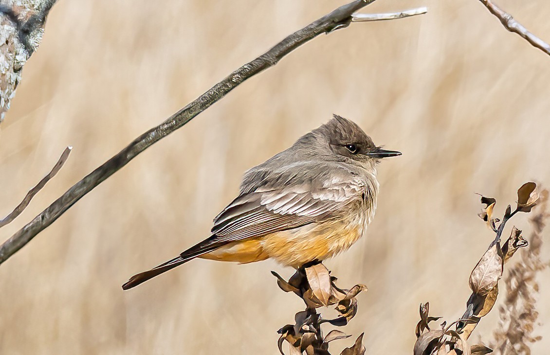
<svg viewBox="0 0 550 355">
<path fill-rule="evenodd" d="M 311 178 L 271 174 L 215 218 L 211 241 L 227 243 L 261 237 L 333 218 L 350 204 L 361 203 L 365 193 L 364 180 L 342 171 L 337 176 L 322 172 Z"/>
</svg>

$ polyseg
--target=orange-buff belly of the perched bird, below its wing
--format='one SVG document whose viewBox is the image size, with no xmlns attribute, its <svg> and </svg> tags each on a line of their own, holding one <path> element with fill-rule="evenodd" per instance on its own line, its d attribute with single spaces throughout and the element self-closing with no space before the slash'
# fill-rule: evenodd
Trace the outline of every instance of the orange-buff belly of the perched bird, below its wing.
<svg viewBox="0 0 550 355">
<path fill-rule="evenodd" d="M 283 265 L 299 268 L 315 259 L 330 258 L 353 245 L 364 230 L 363 223 L 353 222 L 333 220 L 276 232 L 230 243 L 201 258 L 238 263 L 273 258 Z"/>
</svg>

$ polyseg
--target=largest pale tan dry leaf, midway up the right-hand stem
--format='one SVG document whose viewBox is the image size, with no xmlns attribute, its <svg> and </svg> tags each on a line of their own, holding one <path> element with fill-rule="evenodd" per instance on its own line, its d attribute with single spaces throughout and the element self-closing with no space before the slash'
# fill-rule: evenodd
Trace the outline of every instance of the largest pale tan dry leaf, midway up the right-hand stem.
<svg viewBox="0 0 550 355">
<path fill-rule="evenodd" d="M 470 289 L 478 295 L 485 296 L 497 285 L 502 276 L 502 250 L 499 243 L 491 246 L 481 257 L 470 274 Z"/>
</svg>

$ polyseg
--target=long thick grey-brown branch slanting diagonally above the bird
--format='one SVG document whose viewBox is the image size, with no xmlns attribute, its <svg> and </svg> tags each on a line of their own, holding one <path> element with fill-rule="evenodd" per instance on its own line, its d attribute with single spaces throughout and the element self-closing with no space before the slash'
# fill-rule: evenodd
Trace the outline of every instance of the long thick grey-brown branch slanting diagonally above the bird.
<svg viewBox="0 0 550 355">
<path fill-rule="evenodd" d="M 43 210 L 42 213 L 37 215 L 30 223 L 25 225 L 23 229 L 19 230 L 5 241 L 2 246 L 0 246 L 0 264 L 24 247 L 26 243 L 30 242 L 40 231 L 51 225 L 67 211 L 67 209 L 73 206 L 76 201 L 86 195 L 86 193 L 90 192 L 97 185 L 101 184 L 102 181 L 116 173 L 116 171 L 124 167 L 124 165 L 128 164 L 130 160 L 134 159 L 138 154 L 153 145 L 153 143 L 160 141 L 162 138 L 188 123 L 196 115 L 206 110 L 213 103 L 226 96 L 226 94 L 235 87 L 242 84 L 246 79 L 276 65 L 284 56 L 307 41 L 312 40 L 318 35 L 349 26 L 351 23 L 351 15 L 374 1 L 375 0 L 355 0 L 313 21 L 303 29 L 284 38 L 284 40 L 277 43 L 277 45 L 260 57 L 233 71 L 228 77 L 218 82 L 218 84 L 199 96 L 195 101 L 179 110 L 179 112 L 172 115 L 172 117 L 136 138 L 114 157 L 107 160 L 107 162 L 85 176 L 84 179 L 69 188 L 67 192 L 54 201 L 48 208 Z"/>
</svg>

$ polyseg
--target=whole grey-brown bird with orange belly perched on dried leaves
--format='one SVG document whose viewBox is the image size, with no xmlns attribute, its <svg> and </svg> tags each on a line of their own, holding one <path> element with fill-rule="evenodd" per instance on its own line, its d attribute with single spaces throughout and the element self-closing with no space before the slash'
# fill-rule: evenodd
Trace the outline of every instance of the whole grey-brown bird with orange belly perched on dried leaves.
<svg viewBox="0 0 550 355">
<path fill-rule="evenodd" d="M 287 150 L 244 174 L 240 193 L 214 219 L 212 235 L 177 258 L 134 275 L 131 289 L 194 258 L 294 268 L 334 256 L 364 233 L 376 209 L 380 158 L 355 123 L 334 115 Z"/>
</svg>

